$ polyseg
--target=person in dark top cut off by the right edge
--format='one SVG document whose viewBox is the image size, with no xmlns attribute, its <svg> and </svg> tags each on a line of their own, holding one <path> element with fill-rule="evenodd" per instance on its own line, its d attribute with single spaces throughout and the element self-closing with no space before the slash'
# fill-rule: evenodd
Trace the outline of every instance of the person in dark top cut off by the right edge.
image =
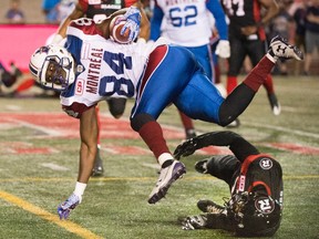
<svg viewBox="0 0 319 239">
<path fill-rule="evenodd" d="M 305 75 L 309 74 L 312 54 L 319 51 L 319 0 L 312 0 L 312 6 L 307 8 L 306 21 L 306 59 Z"/>
</svg>

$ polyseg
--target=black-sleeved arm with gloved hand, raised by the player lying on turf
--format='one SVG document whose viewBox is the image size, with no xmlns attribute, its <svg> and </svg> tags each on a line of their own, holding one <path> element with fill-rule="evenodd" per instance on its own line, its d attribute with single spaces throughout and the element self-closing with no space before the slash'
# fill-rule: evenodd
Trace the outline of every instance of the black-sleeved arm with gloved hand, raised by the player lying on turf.
<svg viewBox="0 0 319 239">
<path fill-rule="evenodd" d="M 176 147 L 174 156 L 178 159 L 181 156 L 192 155 L 195 150 L 210 145 L 229 147 L 240 162 L 249 155 L 259 154 L 258 149 L 240 135 L 230 131 L 222 131 L 203 134 L 182 143 Z"/>
</svg>

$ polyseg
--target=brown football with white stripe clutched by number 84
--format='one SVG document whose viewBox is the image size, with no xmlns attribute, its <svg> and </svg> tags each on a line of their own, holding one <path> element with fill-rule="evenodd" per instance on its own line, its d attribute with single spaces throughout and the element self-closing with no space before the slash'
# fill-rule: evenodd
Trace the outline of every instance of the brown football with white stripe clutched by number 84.
<svg viewBox="0 0 319 239">
<path fill-rule="evenodd" d="M 130 43 L 132 40 L 130 39 L 130 33 L 131 30 L 127 28 L 124 33 L 121 34 L 122 28 L 124 27 L 124 24 L 126 23 L 126 21 L 116 21 L 117 18 L 121 18 L 122 15 L 117 15 L 115 18 L 112 19 L 111 23 L 110 23 L 110 37 L 113 41 L 121 43 L 121 44 L 127 44 Z"/>
</svg>

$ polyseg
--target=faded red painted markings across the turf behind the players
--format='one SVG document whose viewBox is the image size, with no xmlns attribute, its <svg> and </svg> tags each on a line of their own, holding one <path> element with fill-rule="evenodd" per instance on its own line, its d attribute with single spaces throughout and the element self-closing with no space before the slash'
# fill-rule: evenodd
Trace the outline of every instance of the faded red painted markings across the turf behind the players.
<svg viewBox="0 0 319 239">
<path fill-rule="evenodd" d="M 105 115 L 101 115 L 101 138 L 116 139 L 141 139 L 140 135 L 134 132 L 128 119 L 115 119 Z M 63 137 L 79 138 L 79 119 L 72 118 L 64 113 L 1 113 L 0 127 L 17 127 L 27 126 L 35 131 L 42 131 L 42 137 Z M 183 129 L 177 131 L 171 127 L 162 126 L 166 139 L 183 139 Z M 45 131 L 48 129 L 48 131 Z M 56 134 L 51 134 L 56 132 Z M 37 135 L 34 134 L 34 137 Z M 21 142 L 20 142 L 21 143 Z M 18 144 L 18 145 L 17 145 Z M 266 144 L 265 144 L 266 145 Z M 1 146 L 1 145 L 0 145 Z M 3 144 L 2 144 L 3 146 Z M 267 146 L 278 149 L 288 150 L 296 154 L 319 155 L 319 148 L 307 147 L 297 144 L 269 143 Z M 1 147 L 0 147 L 1 149 Z M 110 146 L 106 145 L 103 149 L 112 154 L 143 155 L 151 152 L 146 147 L 135 146 Z M 3 149 L 2 149 L 3 150 Z M 55 153 L 54 148 L 39 148 L 33 145 L 20 145 L 19 142 L 11 142 L 10 145 L 4 145 L 4 150 L 16 154 L 51 154 Z M 226 155 L 231 154 L 226 147 L 206 147 L 196 152 L 202 155 Z"/>
</svg>

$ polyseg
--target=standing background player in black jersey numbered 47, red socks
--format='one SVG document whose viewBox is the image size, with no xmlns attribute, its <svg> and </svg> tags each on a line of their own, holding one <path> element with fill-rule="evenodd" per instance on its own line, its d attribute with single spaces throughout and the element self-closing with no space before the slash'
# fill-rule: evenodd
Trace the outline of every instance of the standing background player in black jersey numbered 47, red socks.
<svg viewBox="0 0 319 239">
<path fill-rule="evenodd" d="M 237 86 L 237 76 L 246 56 L 255 66 L 267 51 L 265 25 L 279 12 L 276 0 L 223 0 L 229 19 L 230 58 L 226 90 L 229 94 Z M 275 94 L 272 77 L 268 74 L 264 83 L 267 96 L 275 115 L 281 112 Z M 229 126 L 239 126 L 239 121 Z"/>
</svg>

